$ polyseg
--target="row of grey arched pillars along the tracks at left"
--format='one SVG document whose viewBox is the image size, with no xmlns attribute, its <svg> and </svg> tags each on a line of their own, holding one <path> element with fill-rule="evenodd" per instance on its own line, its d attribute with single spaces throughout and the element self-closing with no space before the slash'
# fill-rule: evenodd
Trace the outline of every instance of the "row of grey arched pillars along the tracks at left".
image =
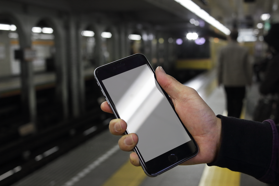
<svg viewBox="0 0 279 186">
<path fill-rule="evenodd" d="M 97 66 L 103 65 L 101 57 L 101 33 L 112 33 L 114 51 L 113 60 L 130 55 L 130 40 L 128 35 L 140 31 L 141 35 L 154 33 L 154 26 L 147 24 L 142 29 L 136 27 L 137 22 L 123 21 L 119 15 L 105 13 L 73 13 L 68 10 L 57 10 L 16 1 L 0 1 L 0 15 L 7 17 L 17 26 L 19 44 L 23 51 L 31 48 L 31 29 L 37 22 L 44 19 L 53 28 L 55 35 L 55 65 L 56 65 L 56 95 L 58 105 L 62 107 L 63 118 L 79 117 L 84 112 L 84 69 L 81 63 L 81 31 L 86 26 L 92 27 L 96 39 Z M 105 15 L 105 16 L 104 16 Z M 119 16 L 119 17 L 118 17 Z M 142 24 L 142 23 L 141 23 Z M 143 40 L 143 53 L 150 59 L 151 41 Z M 21 62 L 22 106 L 25 112 L 25 122 L 36 123 L 36 92 L 32 63 Z"/>
</svg>

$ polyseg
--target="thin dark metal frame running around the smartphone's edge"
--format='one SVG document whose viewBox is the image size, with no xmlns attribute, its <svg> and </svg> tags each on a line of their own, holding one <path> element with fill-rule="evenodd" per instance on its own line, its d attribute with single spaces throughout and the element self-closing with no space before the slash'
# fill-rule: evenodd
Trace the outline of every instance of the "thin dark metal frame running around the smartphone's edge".
<svg viewBox="0 0 279 186">
<path fill-rule="evenodd" d="M 163 94 L 163 96 L 164 96 L 165 98 L 167 98 L 167 100 L 169 101 L 169 103 L 171 104 L 172 108 L 173 108 L 174 111 L 175 111 L 173 102 L 172 102 L 171 99 L 169 98 L 169 95 L 168 95 L 168 94 L 163 90 L 163 88 L 159 85 L 159 83 L 158 83 L 158 81 L 157 81 L 157 79 L 156 79 L 155 71 L 153 70 L 153 68 L 152 68 L 152 66 L 150 65 L 150 63 L 149 63 L 149 61 L 147 60 L 147 58 L 146 58 L 143 54 L 141 54 L 141 53 L 136 53 L 136 54 L 133 54 L 133 55 L 128 56 L 128 57 L 126 57 L 126 58 L 122 58 L 122 59 L 120 59 L 120 60 L 117 60 L 117 61 L 114 61 L 114 62 L 110 62 L 110 63 L 108 63 L 108 64 L 106 64 L 106 65 L 102 65 L 102 66 L 100 66 L 100 67 L 97 67 L 97 68 L 94 70 L 94 77 L 95 77 L 95 80 L 96 80 L 97 84 L 99 85 L 99 87 L 100 87 L 100 89 L 101 89 L 101 92 L 102 92 L 103 95 L 105 96 L 105 99 L 106 99 L 106 101 L 108 102 L 108 104 L 109 104 L 109 106 L 110 106 L 110 108 L 111 108 L 113 114 L 115 115 L 116 118 L 121 119 L 120 116 L 119 116 L 119 114 L 117 113 L 117 110 L 116 110 L 115 106 L 111 103 L 110 98 L 106 95 L 105 90 L 104 90 L 103 87 L 101 86 L 101 83 L 99 82 L 99 80 L 98 80 L 98 78 L 97 78 L 96 71 L 98 71 L 98 70 L 101 69 L 101 68 L 110 66 L 110 65 L 112 65 L 112 64 L 121 62 L 121 61 L 126 60 L 126 59 L 129 59 L 129 58 L 133 58 L 134 56 L 138 56 L 138 55 L 144 57 L 145 62 L 149 65 L 150 69 L 152 70 L 152 72 L 153 72 L 153 74 L 154 74 L 156 87 L 157 87 L 158 90 Z M 175 112 L 175 113 L 176 113 L 176 112 Z M 196 156 L 196 155 L 198 154 L 199 148 L 198 148 L 198 145 L 197 145 L 196 141 L 194 140 L 194 138 L 192 137 L 192 135 L 189 133 L 189 131 L 187 130 L 187 128 L 184 126 L 184 124 L 183 124 L 182 121 L 180 120 L 180 118 L 179 118 L 179 116 L 177 115 L 177 113 L 176 113 L 175 118 L 176 118 L 177 123 L 180 124 L 180 127 L 181 127 L 181 128 L 191 137 L 191 139 L 193 140 L 193 142 L 194 142 L 194 144 L 195 144 L 195 146 L 196 146 L 196 152 L 195 152 L 193 155 L 190 155 L 189 157 L 186 157 L 186 158 L 184 158 L 184 159 L 182 159 L 182 160 L 180 160 L 180 161 L 178 161 L 178 162 L 172 164 L 171 166 L 169 166 L 169 167 L 167 167 L 167 168 L 165 168 L 165 169 L 162 169 L 161 171 L 158 171 L 158 172 L 155 173 L 155 174 L 150 174 L 150 173 L 147 172 L 146 166 L 145 166 L 145 164 L 143 163 L 144 161 L 142 160 L 142 157 L 140 156 L 140 153 L 138 152 L 137 148 L 135 147 L 135 148 L 133 149 L 133 151 L 134 151 L 135 153 L 137 153 L 137 155 L 139 156 L 141 167 L 142 167 L 142 169 L 144 170 L 145 174 L 146 174 L 147 176 L 149 176 L 149 177 L 158 176 L 159 174 L 162 174 L 163 172 L 165 172 L 165 171 L 167 171 L 167 170 L 169 170 L 169 169 L 171 169 L 171 168 L 173 168 L 173 167 L 175 167 L 175 166 L 181 164 L 182 162 L 185 162 L 186 160 L 189 160 L 190 158 L 193 158 L 194 156 Z M 183 126 L 181 126 L 181 124 L 182 124 Z M 129 134 L 127 130 L 125 131 L 125 134 Z"/>
</svg>

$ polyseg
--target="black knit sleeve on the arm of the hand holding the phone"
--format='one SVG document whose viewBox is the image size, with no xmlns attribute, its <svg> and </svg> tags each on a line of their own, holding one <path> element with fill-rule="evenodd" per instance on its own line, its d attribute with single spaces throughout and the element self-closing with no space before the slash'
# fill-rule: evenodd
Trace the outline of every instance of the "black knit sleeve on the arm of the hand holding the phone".
<svg viewBox="0 0 279 186">
<path fill-rule="evenodd" d="M 279 185 L 279 128 L 274 122 L 217 117 L 222 120 L 221 148 L 217 160 L 208 166 L 228 168 Z"/>
</svg>

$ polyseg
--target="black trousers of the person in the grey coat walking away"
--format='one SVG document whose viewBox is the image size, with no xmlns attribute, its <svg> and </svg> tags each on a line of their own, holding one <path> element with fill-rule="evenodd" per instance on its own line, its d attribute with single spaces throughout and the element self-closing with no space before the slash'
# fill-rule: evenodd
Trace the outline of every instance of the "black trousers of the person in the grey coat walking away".
<svg viewBox="0 0 279 186">
<path fill-rule="evenodd" d="M 228 116 L 239 118 L 245 97 L 245 87 L 226 87 Z"/>
</svg>

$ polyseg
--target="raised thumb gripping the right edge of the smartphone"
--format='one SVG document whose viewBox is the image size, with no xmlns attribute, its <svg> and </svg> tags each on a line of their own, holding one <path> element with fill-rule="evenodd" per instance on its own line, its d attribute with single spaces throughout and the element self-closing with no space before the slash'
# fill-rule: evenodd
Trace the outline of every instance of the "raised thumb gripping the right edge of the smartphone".
<svg viewBox="0 0 279 186">
<path fill-rule="evenodd" d="M 174 77 L 166 74 L 162 67 L 157 67 L 155 70 L 156 78 L 161 87 L 171 96 L 174 100 L 179 100 L 182 96 L 182 91 L 185 89 L 191 89 L 185 85 L 182 85 Z"/>
</svg>

